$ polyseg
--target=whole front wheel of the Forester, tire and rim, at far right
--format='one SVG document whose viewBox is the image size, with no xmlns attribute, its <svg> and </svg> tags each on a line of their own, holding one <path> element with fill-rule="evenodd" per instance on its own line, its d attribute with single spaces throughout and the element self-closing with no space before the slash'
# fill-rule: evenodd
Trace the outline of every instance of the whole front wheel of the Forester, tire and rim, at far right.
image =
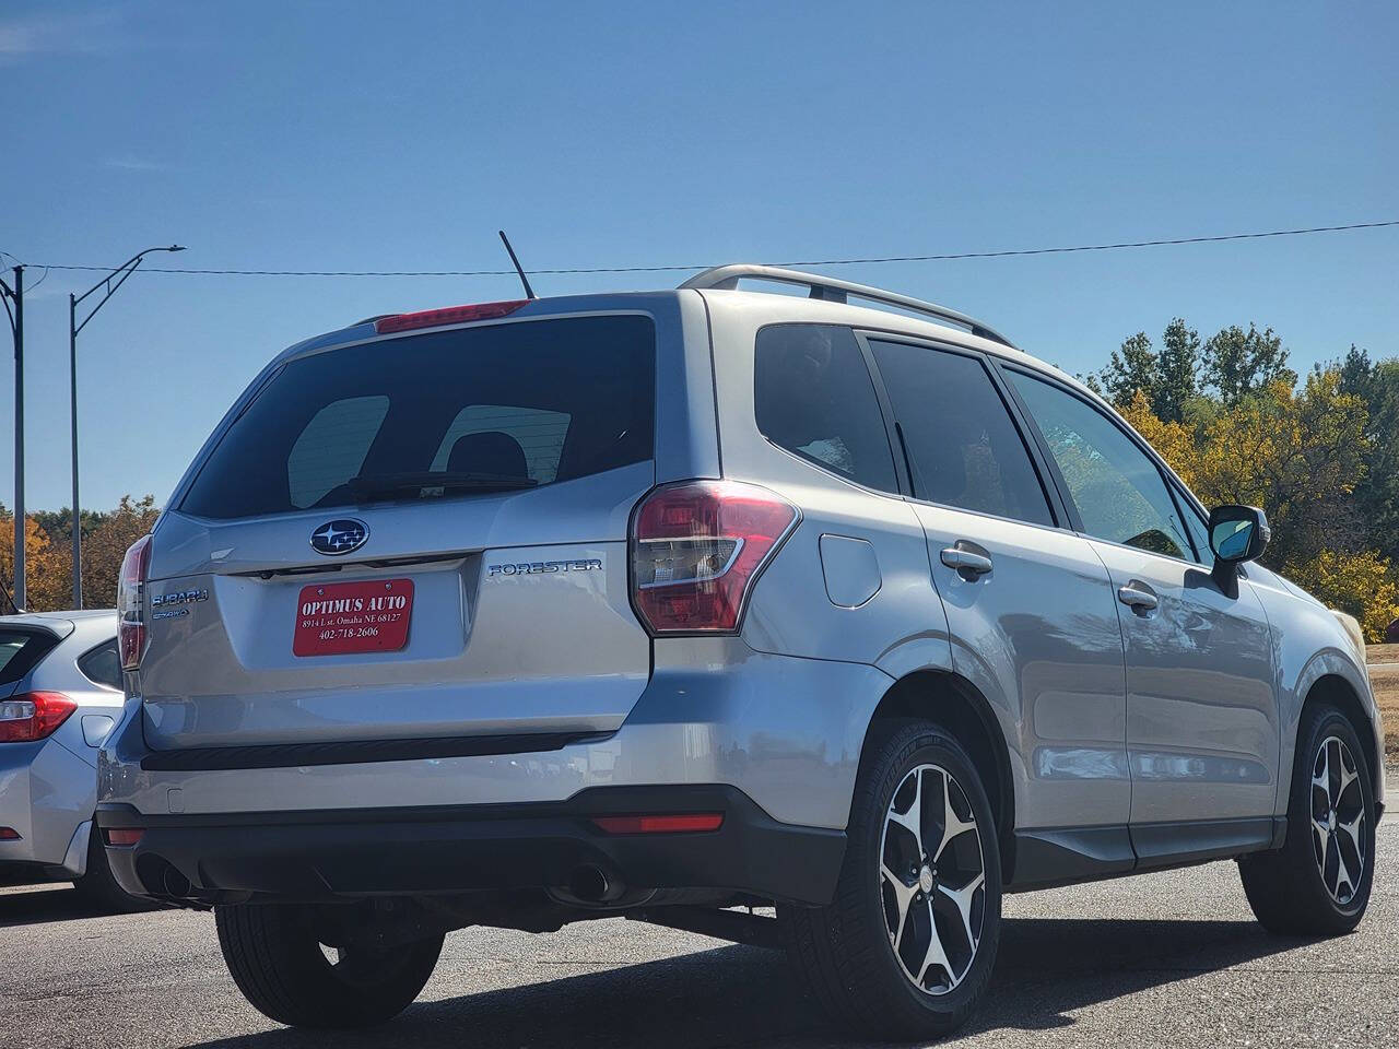
<svg viewBox="0 0 1399 1049">
<path fill-rule="evenodd" d="M 1281 849 L 1238 862 L 1254 915 L 1279 936 L 1340 936 L 1358 925 L 1375 867 L 1367 754 L 1330 704 L 1302 712 Z"/>
</svg>

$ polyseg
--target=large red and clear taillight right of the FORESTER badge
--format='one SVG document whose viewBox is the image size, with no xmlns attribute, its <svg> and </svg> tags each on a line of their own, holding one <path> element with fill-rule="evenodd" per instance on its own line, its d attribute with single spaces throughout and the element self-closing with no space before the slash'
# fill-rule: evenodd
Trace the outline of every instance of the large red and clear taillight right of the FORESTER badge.
<svg viewBox="0 0 1399 1049">
<path fill-rule="evenodd" d="M 796 506 L 739 481 L 656 488 L 632 518 L 637 613 L 653 634 L 733 632 Z"/>
</svg>

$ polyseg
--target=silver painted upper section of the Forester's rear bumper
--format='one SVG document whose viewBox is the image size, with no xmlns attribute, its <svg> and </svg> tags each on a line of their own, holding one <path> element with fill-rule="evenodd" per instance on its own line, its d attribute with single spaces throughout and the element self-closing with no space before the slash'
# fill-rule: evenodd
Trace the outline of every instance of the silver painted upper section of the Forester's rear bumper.
<svg viewBox="0 0 1399 1049">
<path fill-rule="evenodd" d="M 891 683 L 870 666 L 760 653 L 739 638 L 666 639 L 625 723 L 604 737 L 550 745 L 495 737 L 499 745 L 484 751 L 478 738 L 438 741 L 471 744 L 456 752 L 416 752 L 404 740 L 385 741 L 382 752 L 376 743 L 341 744 L 329 762 L 305 745 L 276 761 L 266 759 L 274 747 L 152 751 L 133 699 L 104 743 L 98 796 L 152 817 L 218 817 L 565 803 L 596 787 L 726 785 L 778 822 L 842 829 L 865 730 Z"/>
</svg>

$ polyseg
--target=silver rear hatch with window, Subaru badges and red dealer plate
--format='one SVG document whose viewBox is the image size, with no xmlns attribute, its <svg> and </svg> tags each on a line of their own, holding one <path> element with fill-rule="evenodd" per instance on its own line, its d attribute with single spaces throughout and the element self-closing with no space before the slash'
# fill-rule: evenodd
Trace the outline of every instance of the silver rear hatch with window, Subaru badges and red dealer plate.
<svg viewBox="0 0 1399 1049">
<path fill-rule="evenodd" d="M 621 725 L 651 645 L 649 316 L 374 338 L 284 362 L 152 538 L 155 750 Z"/>
</svg>

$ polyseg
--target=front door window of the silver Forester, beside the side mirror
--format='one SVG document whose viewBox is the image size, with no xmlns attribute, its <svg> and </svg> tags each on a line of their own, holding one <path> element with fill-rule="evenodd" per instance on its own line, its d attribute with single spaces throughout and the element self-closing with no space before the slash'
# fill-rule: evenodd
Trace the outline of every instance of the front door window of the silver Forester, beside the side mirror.
<svg viewBox="0 0 1399 1049">
<path fill-rule="evenodd" d="M 1185 523 L 1156 463 L 1107 415 L 1072 393 L 1023 372 L 1011 382 L 1034 415 L 1097 538 L 1193 559 Z"/>
</svg>

